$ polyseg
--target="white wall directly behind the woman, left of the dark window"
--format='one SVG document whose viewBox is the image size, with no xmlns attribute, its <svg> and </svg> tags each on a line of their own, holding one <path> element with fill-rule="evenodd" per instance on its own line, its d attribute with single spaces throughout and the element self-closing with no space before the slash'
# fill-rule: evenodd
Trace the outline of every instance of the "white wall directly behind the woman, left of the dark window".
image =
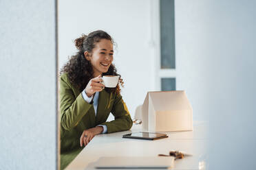
<svg viewBox="0 0 256 170">
<path fill-rule="evenodd" d="M 76 52 L 74 40 L 97 29 L 118 45 L 114 64 L 125 81 L 122 97 L 131 116 L 151 90 L 150 1 L 59 1 L 60 68 Z"/>
</svg>

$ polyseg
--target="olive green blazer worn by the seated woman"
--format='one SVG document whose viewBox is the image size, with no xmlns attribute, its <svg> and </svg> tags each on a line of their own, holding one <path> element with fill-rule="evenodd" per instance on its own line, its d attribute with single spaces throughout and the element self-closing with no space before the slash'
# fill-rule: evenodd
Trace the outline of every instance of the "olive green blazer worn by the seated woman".
<svg viewBox="0 0 256 170">
<path fill-rule="evenodd" d="M 106 125 L 107 133 L 129 130 L 132 126 L 131 117 L 120 94 L 107 93 L 102 90 L 98 97 L 98 108 L 95 117 L 93 104 L 88 104 L 67 73 L 61 75 L 61 152 L 80 147 L 80 137 L 83 130 L 96 125 Z M 106 122 L 109 113 L 114 121 Z"/>
</svg>

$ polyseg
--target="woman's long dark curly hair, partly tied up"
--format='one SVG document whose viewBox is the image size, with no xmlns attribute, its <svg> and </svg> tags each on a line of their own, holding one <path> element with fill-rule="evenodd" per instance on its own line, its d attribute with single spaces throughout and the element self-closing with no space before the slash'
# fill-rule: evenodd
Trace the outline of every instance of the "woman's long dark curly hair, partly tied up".
<svg viewBox="0 0 256 170">
<path fill-rule="evenodd" d="M 114 44 L 114 40 L 111 38 L 111 36 L 109 36 L 107 32 L 104 32 L 102 30 L 91 32 L 87 36 L 85 34 L 82 34 L 80 38 L 76 38 L 74 42 L 76 48 L 78 49 L 78 52 L 76 53 L 76 55 L 71 56 L 71 58 L 60 71 L 60 75 L 62 75 L 63 73 L 67 73 L 70 82 L 77 86 L 80 92 L 85 89 L 89 80 L 94 78 L 94 70 L 92 69 L 92 64 L 85 59 L 84 53 L 85 51 L 88 51 L 89 53 L 92 52 L 92 49 L 94 49 L 96 42 L 99 42 L 101 39 L 110 40 L 112 44 Z M 103 73 L 103 75 L 119 74 L 116 73 L 116 67 L 114 66 L 114 64 L 111 64 L 107 73 Z M 107 93 L 120 93 L 119 85 L 117 85 L 116 88 L 105 88 L 105 90 L 107 91 Z"/>
</svg>

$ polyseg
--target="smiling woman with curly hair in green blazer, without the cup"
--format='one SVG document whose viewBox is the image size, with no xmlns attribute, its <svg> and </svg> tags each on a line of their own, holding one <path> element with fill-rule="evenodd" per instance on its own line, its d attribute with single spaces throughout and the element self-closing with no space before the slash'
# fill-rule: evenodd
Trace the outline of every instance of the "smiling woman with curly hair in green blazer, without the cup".
<svg viewBox="0 0 256 170">
<path fill-rule="evenodd" d="M 129 130 L 131 117 L 116 88 L 105 88 L 103 75 L 118 75 L 113 61 L 113 40 L 96 31 L 75 40 L 78 53 L 61 69 L 61 169 L 95 135 Z M 109 113 L 115 120 L 106 122 Z"/>
</svg>

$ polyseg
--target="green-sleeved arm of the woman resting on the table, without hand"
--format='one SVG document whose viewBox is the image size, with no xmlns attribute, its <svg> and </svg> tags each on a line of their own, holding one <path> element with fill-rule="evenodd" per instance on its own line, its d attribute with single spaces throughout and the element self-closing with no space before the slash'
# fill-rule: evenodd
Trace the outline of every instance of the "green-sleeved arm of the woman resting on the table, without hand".
<svg viewBox="0 0 256 170">
<path fill-rule="evenodd" d="M 114 121 L 100 123 L 100 125 L 107 125 L 107 133 L 129 130 L 131 128 L 133 122 L 120 94 L 116 95 L 111 113 L 115 117 Z"/>
</svg>

